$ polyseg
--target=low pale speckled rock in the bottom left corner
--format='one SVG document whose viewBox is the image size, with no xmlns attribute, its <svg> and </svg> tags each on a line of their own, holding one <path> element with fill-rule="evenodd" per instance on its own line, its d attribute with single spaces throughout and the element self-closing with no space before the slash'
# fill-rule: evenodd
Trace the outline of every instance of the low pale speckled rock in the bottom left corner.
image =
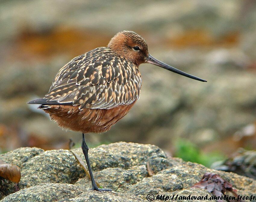
<svg viewBox="0 0 256 202">
<path fill-rule="evenodd" d="M 1 202 L 50 202 L 73 198 L 82 192 L 82 189 L 71 184 L 41 183 L 10 194 Z"/>
</svg>

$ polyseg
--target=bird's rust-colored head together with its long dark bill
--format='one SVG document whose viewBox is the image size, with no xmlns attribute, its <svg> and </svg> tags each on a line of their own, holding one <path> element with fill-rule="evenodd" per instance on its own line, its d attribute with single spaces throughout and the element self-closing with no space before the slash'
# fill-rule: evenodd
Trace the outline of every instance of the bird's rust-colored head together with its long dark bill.
<svg viewBox="0 0 256 202">
<path fill-rule="evenodd" d="M 152 57 L 148 53 L 148 45 L 145 39 L 133 31 L 118 32 L 109 41 L 108 48 L 111 48 L 121 56 L 129 59 L 135 65 L 137 65 L 137 67 L 139 67 L 139 65 L 142 63 L 150 63 L 167 69 L 169 71 L 175 72 L 177 74 L 181 74 L 185 77 L 206 82 L 206 80 L 187 74 Z"/>
</svg>

